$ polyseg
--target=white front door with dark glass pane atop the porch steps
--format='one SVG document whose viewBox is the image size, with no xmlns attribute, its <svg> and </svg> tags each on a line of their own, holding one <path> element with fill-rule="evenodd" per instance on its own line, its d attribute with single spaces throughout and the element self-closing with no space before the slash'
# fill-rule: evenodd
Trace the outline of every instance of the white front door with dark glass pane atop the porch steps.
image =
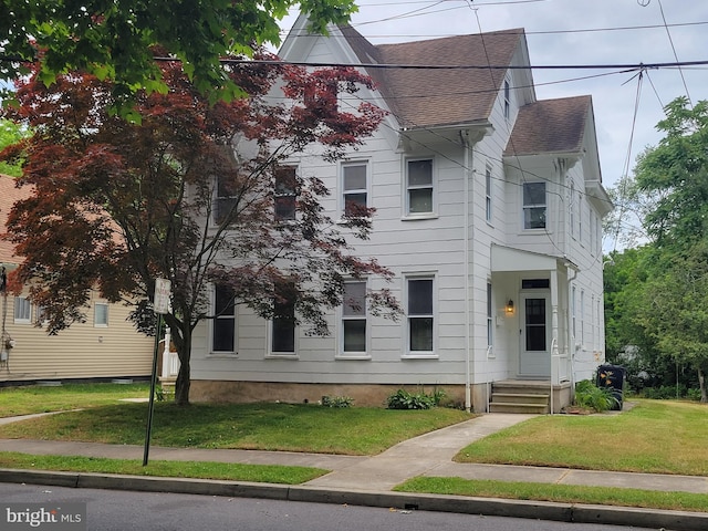
<svg viewBox="0 0 708 531">
<path fill-rule="evenodd" d="M 519 376 L 551 377 L 550 293 L 539 291 L 521 295 L 521 348 Z"/>
</svg>

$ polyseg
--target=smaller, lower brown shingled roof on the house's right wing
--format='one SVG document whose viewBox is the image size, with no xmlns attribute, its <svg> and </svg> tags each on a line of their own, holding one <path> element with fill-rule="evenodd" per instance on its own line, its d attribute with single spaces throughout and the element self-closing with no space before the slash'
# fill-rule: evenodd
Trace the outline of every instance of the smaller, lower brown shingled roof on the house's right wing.
<svg viewBox="0 0 708 531">
<path fill-rule="evenodd" d="M 592 119 L 591 96 L 542 100 L 524 105 L 519 110 L 504 156 L 580 153 L 589 119 Z"/>
</svg>

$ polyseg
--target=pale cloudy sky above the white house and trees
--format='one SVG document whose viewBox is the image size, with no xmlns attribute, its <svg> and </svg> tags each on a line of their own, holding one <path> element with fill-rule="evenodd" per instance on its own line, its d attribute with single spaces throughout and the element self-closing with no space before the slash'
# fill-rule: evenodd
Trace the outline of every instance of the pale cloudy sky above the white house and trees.
<svg viewBox="0 0 708 531">
<path fill-rule="evenodd" d="M 706 0 L 358 0 L 352 25 L 373 44 L 523 28 L 532 65 L 708 61 Z M 296 13 L 282 22 L 287 32 Z M 589 77 L 590 76 L 590 77 Z M 708 98 L 708 64 L 533 71 L 538 100 L 590 94 L 605 187 L 662 138 L 664 106 Z"/>
</svg>

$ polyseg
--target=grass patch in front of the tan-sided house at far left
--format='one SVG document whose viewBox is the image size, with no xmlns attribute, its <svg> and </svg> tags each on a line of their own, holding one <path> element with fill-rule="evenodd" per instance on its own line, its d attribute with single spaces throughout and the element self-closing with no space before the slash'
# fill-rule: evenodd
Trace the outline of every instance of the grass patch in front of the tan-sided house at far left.
<svg viewBox="0 0 708 531">
<path fill-rule="evenodd" d="M 0 417 L 103 406 L 123 398 L 148 398 L 149 389 L 148 383 L 0 387 Z"/>
</svg>

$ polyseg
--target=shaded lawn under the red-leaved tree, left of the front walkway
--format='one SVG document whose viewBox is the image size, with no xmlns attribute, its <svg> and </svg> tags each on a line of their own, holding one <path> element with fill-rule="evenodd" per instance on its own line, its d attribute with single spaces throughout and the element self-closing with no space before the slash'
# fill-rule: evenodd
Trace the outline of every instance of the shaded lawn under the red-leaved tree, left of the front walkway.
<svg viewBox="0 0 708 531">
<path fill-rule="evenodd" d="M 122 403 L 0 427 L 1 438 L 142 445 L 147 404 Z M 375 455 L 402 440 L 471 418 L 448 408 L 389 410 L 292 404 L 155 404 L 152 444 Z"/>
</svg>

